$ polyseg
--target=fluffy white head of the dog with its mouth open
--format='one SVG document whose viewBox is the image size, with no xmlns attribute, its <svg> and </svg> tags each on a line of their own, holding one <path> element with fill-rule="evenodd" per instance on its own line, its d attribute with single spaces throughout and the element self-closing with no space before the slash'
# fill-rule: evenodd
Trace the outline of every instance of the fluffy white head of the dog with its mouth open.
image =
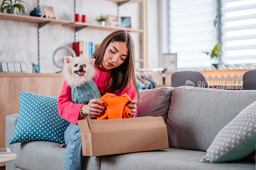
<svg viewBox="0 0 256 170">
<path fill-rule="evenodd" d="M 90 80 L 95 74 L 95 59 L 85 59 L 80 57 L 64 57 L 63 73 L 69 85 L 79 86 Z"/>
</svg>

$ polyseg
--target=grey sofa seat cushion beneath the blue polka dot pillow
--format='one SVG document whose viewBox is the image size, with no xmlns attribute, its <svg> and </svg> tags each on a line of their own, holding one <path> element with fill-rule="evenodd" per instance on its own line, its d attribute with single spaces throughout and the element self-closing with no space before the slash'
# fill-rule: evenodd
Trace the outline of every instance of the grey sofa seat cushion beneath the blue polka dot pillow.
<svg viewBox="0 0 256 170">
<path fill-rule="evenodd" d="M 17 154 L 13 161 L 20 169 L 63 169 L 65 148 L 59 143 L 33 141 L 12 144 L 12 152 Z"/>
</svg>

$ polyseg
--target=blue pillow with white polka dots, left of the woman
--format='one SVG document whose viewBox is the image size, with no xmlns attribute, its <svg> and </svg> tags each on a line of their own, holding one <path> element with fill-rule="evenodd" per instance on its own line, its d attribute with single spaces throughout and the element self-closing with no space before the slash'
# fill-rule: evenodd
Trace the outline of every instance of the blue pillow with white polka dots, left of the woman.
<svg viewBox="0 0 256 170">
<path fill-rule="evenodd" d="M 20 111 L 9 144 L 51 141 L 64 144 L 68 121 L 58 113 L 58 97 L 20 91 Z"/>
</svg>

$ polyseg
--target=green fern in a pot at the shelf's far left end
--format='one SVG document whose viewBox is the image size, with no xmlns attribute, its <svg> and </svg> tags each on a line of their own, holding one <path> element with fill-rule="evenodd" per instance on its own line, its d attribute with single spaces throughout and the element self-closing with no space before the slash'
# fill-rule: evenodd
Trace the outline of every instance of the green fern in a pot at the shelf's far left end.
<svg viewBox="0 0 256 170">
<path fill-rule="evenodd" d="M 22 14 L 24 14 L 25 7 L 21 4 L 22 2 L 24 3 L 22 0 L 3 0 L 0 11 L 4 12 L 4 10 L 6 10 L 7 13 L 16 14 L 17 8 L 20 12 L 22 11 Z"/>
</svg>

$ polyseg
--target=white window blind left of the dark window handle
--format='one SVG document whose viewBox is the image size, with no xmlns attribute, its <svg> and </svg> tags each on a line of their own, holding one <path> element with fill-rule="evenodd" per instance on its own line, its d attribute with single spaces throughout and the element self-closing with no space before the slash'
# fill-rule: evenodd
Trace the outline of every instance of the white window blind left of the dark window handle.
<svg viewBox="0 0 256 170">
<path fill-rule="evenodd" d="M 210 51 L 216 43 L 214 0 L 170 0 L 170 52 L 177 67 L 211 67 Z"/>
</svg>

